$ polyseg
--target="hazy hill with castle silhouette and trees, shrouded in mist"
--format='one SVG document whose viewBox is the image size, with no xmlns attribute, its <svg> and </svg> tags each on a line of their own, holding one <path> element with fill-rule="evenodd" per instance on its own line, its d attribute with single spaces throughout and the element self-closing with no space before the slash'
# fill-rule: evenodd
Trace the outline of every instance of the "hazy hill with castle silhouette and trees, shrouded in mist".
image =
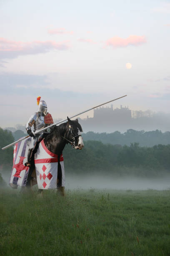
<svg viewBox="0 0 170 256">
<path fill-rule="evenodd" d="M 169 115 L 166 113 L 154 113 L 151 110 L 130 110 L 128 107 L 113 109 L 110 107 L 100 107 L 94 109 L 92 118 L 80 119 L 83 131 L 125 132 L 128 129 L 138 131 L 152 131 L 155 129 L 168 131 L 170 127 Z"/>
</svg>

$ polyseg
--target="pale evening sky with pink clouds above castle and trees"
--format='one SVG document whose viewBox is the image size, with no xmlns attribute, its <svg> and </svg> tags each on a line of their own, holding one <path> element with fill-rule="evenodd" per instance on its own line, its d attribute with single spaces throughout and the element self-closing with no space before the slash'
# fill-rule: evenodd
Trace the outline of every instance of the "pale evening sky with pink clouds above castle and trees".
<svg viewBox="0 0 170 256">
<path fill-rule="evenodd" d="M 0 127 L 37 96 L 65 119 L 126 94 L 114 108 L 170 112 L 170 1 L 0 0 Z"/>
</svg>

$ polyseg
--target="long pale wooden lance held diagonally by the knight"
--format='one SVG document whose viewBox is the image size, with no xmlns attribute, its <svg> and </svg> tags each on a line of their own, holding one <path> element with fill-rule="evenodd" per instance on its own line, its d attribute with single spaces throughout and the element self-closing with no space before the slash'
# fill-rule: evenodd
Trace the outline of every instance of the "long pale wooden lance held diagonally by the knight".
<svg viewBox="0 0 170 256">
<path fill-rule="evenodd" d="M 76 114 L 76 115 L 73 115 L 73 116 L 70 117 L 70 118 L 74 118 L 74 117 L 76 117 L 77 115 L 84 114 L 84 113 L 86 113 L 86 112 L 88 112 L 88 111 L 90 111 L 90 110 L 92 110 L 92 109 L 94 109 L 94 108 L 98 108 L 98 107 L 100 107 L 100 106 L 102 106 L 102 105 L 105 105 L 105 104 L 110 103 L 110 102 L 115 101 L 115 100 L 119 100 L 119 99 L 121 99 L 121 98 L 123 98 L 123 97 L 126 97 L 126 96 L 127 96 L 127 95 L 124 95 L 124 96 L 119 97 L 119 98 L 117 98 L 117 99 L 110 100 L 110 101 L 107 101 L 107 102 L 102 103 L 102 104 L 100 104 L 100 105 L 97 105 L 97 106 L 95 106 L 95 107 L 93 107 L 93 108 L 89 108 L 89 109 L 87 109 L 87 110 L 85 110 L 85 111 L 82 111 L 82 112 Z M 42 131 L 45 131 L 45 130 L 47 130 L 48 128 L 54 126 L 54 125 L 58 125 L 58 124 L 60 124 L 60 123 L 64 123 L 65 121 L 67 121 L 67 119 L 61 120 L 61 121 L 58 122 L 58 123 L 53 123 L 52 125 L 49 125 L 49 126 L 43 128 L 43 129 L 39 130 L 39 131 L 36 131 L 36 132 L 33 133 L 33 134 L 36 135 L 37 133 L 40 133 L 40 132 L 42 132 Z M 23 140 L 25 140 L 25 139 L 28 138 L 28 137 L 30 137 L 30 136 L 26 136 L 26 137 L 20 138 L 18 141 L 15 141 L 15 142 L 13 142 L 13 143 L 11 143 L 11 144 L 9 144 L 9 145 L 3 147 L 2 150 L 6 149 L 6 148 L 9 148 L 10 146 L 13 146 L 15 143 L 18 143 L 19 141 L 23 141 Z"/>
</svg>

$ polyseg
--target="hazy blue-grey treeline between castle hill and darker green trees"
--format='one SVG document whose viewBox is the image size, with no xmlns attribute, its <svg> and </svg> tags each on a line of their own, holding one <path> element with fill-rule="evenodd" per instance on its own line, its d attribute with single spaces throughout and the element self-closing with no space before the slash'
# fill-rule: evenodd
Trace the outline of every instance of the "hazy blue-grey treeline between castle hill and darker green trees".
<svg viewBox="0 0 170 256">
<path fill-rule="evenodd" d="M 94 133 L 92 131 L 82 134 L 84 141 L 94 140 L 101 141 L 102 143 L 110 143 L 113 145 L 127 145 L 131 143 L 139 143 L 140 146 L 155 146 L 158 144 L 170 144 L 170 132 L 162 133 L 156 131 L 135 131 L 133 129 L 127 130 L 125 133 L 115 131 L 114 133 Z"/>
</svg>

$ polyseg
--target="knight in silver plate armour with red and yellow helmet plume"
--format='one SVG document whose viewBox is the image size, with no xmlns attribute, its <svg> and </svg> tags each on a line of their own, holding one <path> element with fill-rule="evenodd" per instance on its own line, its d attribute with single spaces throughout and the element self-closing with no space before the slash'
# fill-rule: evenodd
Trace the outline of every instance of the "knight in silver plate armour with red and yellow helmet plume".
<svg viewBox="0 0 170 256">
<path fill-rule="evenodd" d="M 41 131 L 41 129 L 53 124 L 51 114 L 47 113 L 47 104 L 44 100 L 40 100 L 40 98 L 40 96 L 37 97 L 38 111 L 30 116 L 28 123 L 25 126 L 28 135 L 31 137 L 28 150 L 28 161 L 25 163 L 26 166 L 31 166 L 40 141 L 50 132 L 50 128 L 48 128 L 47 131 Z M 31 130 L 32 125 L 33 132 Z M 35 135 L 34 133 L 37 131 L 39 132 Z"/>
</svg>

